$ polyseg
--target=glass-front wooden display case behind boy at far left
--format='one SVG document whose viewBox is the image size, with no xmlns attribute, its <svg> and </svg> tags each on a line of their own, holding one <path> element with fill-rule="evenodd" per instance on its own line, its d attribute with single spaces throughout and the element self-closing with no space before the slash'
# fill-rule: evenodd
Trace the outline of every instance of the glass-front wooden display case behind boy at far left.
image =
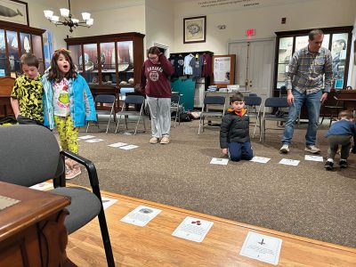
<svg viewBox="0 0 356 267">
<path fill-rule="evenodd" d="M 21 73 L 20 57 L 34 53 L 39 72 L 44 73 L 44 29 L 0 21 L 0 77 L 17 77 Z"/>
</svg>

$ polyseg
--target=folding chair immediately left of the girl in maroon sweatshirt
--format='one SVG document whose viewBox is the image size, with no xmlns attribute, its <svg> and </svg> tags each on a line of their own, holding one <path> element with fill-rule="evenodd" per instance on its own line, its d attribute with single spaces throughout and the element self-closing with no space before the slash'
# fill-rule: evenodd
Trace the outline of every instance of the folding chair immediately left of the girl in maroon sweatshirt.
<svg viewBox="0 0 356 267">
<path fill-rule="evenodd" d="M 128 117 L 129 116 L 136 116 L 136 117 L 138 116 L 136 127 L 134 129 L 134 134 L 137 133 L 137 127 L 139 126 L 139 123 L 140 123 L 140 120 L 142 117 L 144 132 L 146 132 L 146 124 L 145 124 L 144 115 L 143 115 L 144 103 L 145 103 L 145 99 L 142 95 L 126 95 L 121 111 L 117 112 L 118 119 L 117 119 L 117 128 L 115 130 L 115 133 L 117 133 L 118 126 L 120 125 L 121 116 L 125 117 L 126 130 L 128 129 L 128 127 L 127 127 Z M 140 109 L 140 111 L 128 110 L 130 105 L 141 105 L 141 109 Z"/>
</svg>

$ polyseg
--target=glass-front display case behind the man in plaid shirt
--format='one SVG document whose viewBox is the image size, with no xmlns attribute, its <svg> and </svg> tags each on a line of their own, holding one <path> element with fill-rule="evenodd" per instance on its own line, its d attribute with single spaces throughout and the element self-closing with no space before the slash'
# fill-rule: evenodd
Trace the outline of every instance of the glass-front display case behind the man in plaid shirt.
<svg viewBox="0 0 356 267">
<path fill-rule="evenodd" d="M 333 57 L 333 88 L 346 87 L 347 74 L 352 41 L 352 26 L 321 28 L 324 40 L 321 44 L 332 53 Z M 289 61 L 295 51 L 308 45 L 308 33 L 311 29 L 276 32 L 276 58 L 274 95 L 279 96 L 279 88 L 285 85 Z"/>
</svg>

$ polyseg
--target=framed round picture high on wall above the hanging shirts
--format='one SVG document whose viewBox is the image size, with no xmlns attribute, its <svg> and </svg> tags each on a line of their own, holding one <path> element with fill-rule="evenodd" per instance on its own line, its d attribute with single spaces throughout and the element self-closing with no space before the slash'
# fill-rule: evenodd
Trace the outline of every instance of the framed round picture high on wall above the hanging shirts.
<svg viewBox="0 0 356 267">
<path fill-rule="evenodd" d="M 206 16 L 183 19 L 183 43 L 206 42 Z"/>
</svg>

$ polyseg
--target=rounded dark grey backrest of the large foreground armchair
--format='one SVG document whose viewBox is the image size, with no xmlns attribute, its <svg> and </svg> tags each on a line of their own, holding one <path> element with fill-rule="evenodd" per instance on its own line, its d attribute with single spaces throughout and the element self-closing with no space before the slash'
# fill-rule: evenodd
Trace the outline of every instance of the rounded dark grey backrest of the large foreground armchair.
<svg viewBox="0 0 356 267">
<path fill-rule="evenodd" d="M 0 127 L 0 181 L 32 186 L 52 179 L 60 163 L 53 133 L 39 125 Z"/>
</svg>

